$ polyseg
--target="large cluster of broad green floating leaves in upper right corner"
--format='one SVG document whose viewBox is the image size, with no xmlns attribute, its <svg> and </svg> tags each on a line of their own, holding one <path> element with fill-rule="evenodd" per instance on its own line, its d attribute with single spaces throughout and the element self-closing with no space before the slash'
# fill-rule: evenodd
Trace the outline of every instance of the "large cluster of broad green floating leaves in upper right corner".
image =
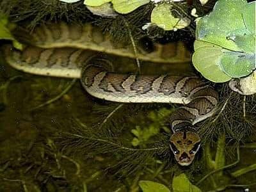
<svg viewBox="0 0 256 192">
<path fill-rule="evenodd" d="M 193 65 L 205 78 L 221 83 L 255 70 L 254 6 L 244 0 L 220 0 L 198 20 Z"/>
</svg>

